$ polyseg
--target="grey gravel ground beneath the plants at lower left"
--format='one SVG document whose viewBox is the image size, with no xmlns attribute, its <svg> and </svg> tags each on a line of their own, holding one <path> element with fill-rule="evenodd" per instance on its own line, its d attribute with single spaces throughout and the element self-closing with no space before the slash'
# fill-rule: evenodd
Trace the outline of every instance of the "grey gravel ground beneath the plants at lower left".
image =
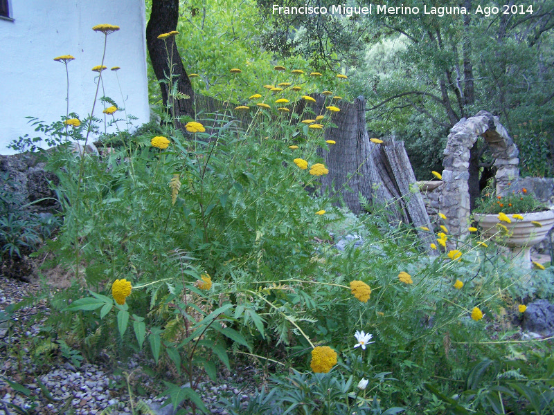
<svg viewBox="0 0 554 415">
<path fill-rule="evenodd" d="M 38 290 L 37 284 L 0 277 L 0 311 Z M 48 314 L 46 300 L 21 308 L 11 322 L 3 321 L 6 319 L 0 312 L 0 415 L 18 413 L 8 403 L 28 410 L 29 414 L 88 415 L 100 414 L 106 408 L 111 409 L 106 412 L 109 414 L 129 414 L 131 405 L 127 382 L 124 376 L 114 374 L 122 373 L 121 369 L 131 373 L 133 381 L 140 382 L 143 390 L 150 391 L 148 393 L 151 396 L 133 396 L 135 405 L 142 400 L 154 414 L 175 413 L 170 406 L 161 408 L 166 397 L 156 396 L 163 385 L 160 386 L 154 378 L 142 371 L 143 357 L 139 355 L 135 355 L 125 365 L 118 362 L 118 371 L 102 362 L 83 362 L 80 367 L 75 367 L 71 362 L 64 361 L 64 358 L 54 358 L 53 362 L 57 364 L 49 367 L 48 371 L 39 369 L 31 360 L 30 351 L 25 344 L 28 344 L 29 338 L 39 335 L 38 326 L 44 318 L 39 321 L 33 319 L 43 313 Z M 233 369 L 233 373 L 224 372 L 217 382 L 206 379 L 199 384 L 199 394 L 214 414 L 226 414 L 223 407 L 216 405 L 220 397 L 240 396 L 241 401 L 247 403 L 249 396 L 256 390 L 253 378 L 258 376 L 258 372 L 253 367 L 243 366 Z M 25 396 L 18 392 L 15 390 L 17 387 L 12 387 L 6 379 L 23 385 L 31 391 L 30 395 Z M 41 383 L 46 387 L 46 393 L 42 390 Z"/>
</svg>

